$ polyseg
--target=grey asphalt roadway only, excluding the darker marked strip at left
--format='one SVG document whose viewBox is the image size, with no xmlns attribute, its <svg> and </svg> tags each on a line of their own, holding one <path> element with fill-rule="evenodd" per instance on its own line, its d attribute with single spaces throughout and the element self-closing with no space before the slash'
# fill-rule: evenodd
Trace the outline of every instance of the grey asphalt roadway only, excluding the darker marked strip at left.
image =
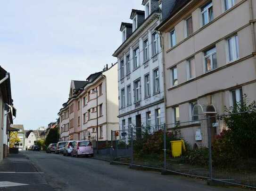
<svg viewBox="0 0 256 191">
<path fill-rule="evenodd" d="M 56 191 L 244 191 L 207 186 L 205 181 L 133 170 L 91 158 L 24 151 Z"/>
</svg>

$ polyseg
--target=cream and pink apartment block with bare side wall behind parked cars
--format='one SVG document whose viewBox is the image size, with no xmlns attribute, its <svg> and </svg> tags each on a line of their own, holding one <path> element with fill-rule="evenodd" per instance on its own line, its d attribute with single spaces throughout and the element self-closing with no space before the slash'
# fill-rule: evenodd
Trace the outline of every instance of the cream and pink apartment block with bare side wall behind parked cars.
<svg viewBox="0 0 256 191">
<path fill-rule="evenodd" d="M 111 140 L 111 130 L 118 130 L 117 85 L 117 64 L 91 74 L 86 81 L 71 81 L 69 99 L 58 113 L 60 138 L 96 140 L 98 107 L 99 141 Z"/>
</svg>

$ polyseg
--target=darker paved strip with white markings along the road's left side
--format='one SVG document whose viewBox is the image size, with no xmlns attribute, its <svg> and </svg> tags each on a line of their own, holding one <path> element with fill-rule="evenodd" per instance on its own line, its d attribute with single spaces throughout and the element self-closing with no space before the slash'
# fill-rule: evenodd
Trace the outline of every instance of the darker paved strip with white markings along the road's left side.
<svg viewBox="0 0 256 191">
<path fill-rule="evenodd" d="M 0 162 L 0 191 L 52 191 L 39 172 L 24 154 L 9 154 Z"/>
</svg>

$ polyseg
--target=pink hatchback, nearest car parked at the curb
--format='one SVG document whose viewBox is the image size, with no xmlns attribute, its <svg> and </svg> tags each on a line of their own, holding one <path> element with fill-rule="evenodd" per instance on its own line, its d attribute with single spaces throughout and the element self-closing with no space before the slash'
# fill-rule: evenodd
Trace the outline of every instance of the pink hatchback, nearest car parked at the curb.
<svg viewBox="0 0 256 191">
<path fill-rule="evenodd" d="M 91 155 L 93 157 L 91 141 L 75 141 L 71 156 L 79 157 L 81 155 Z"/>
</svg>

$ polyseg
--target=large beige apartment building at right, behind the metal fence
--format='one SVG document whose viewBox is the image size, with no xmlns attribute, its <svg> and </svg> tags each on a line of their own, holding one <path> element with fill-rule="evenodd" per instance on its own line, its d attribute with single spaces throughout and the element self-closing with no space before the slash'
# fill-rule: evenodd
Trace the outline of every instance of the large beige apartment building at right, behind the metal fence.
<svg viewBox="0 0 256 191">
<path fill-rule="evenodd" d="M 243 94 L 256 100 L 255 15 L 255 0 L 176 0 L 157 29 L 165 60 L 166 123 L 197 121 L 195 104 L 212 104 L 222 114 Z M 180 125 L 195 147 L 207 145 L 206 131 L 195 140 L 202 123 Z M 224 126 L 219 123 L 213 137 Z"/>
</svg>

